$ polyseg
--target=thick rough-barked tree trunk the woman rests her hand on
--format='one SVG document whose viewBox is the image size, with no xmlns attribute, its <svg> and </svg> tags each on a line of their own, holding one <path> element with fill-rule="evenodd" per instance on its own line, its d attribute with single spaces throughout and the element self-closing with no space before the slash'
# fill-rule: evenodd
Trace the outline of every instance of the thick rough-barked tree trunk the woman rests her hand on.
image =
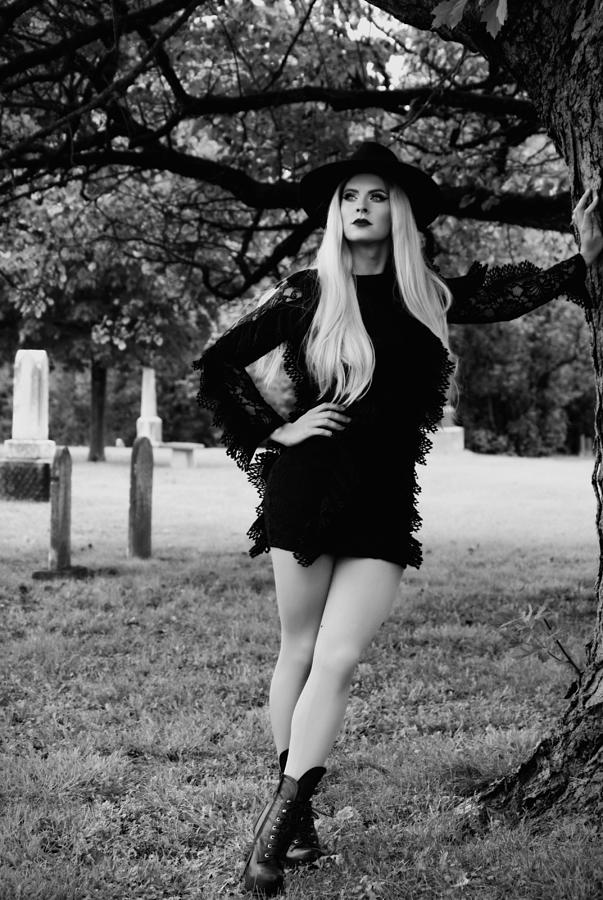
<svg viewBox="0 0 603 900">
<path fill-rule="evenodd" d="M 377 0 L 400 21 L 431 28 L 438 0 Z M 479 48 L 491 62 L 513 73 L 535 103 L 559 154 L 569 167 L 572 208 L 584 190 L 599 192 L 603 208 L 601 160 L 603 123 L 603 20 L 592 0 L 510 0 L 507 20 L 496 39 L 480 21 L 477 5 L 454 30 L 439 29 L 466 46 Z M 567 211 L 568 220 L 571 210 Z M 576 235 L 577 236 L 577 235 Z M 587 286 L 596 305 L 586 313 L 592 336 L 597 390 L 595 468 L 599 572 L 595 586 L 596 618 L 587 645 L 585 671 L 572 685 L 570 703 L 554 732 L 513 774 L 501 779 L 460 807 L 481 819 L 496 811 L 541 815 L 561 805 L 564 810 L 603 812 L 603 254 L 589 267 Z M 594 604 L 595 605 L 595 604 Z"/>
</svg>

